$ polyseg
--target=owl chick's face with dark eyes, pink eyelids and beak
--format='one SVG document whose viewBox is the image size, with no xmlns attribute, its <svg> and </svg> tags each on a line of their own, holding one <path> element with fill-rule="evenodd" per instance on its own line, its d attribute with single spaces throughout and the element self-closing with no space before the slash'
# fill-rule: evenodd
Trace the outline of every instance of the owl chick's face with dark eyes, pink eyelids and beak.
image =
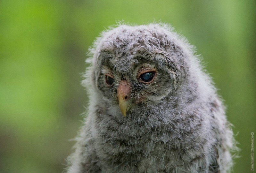
<svg viewBox="0 0 256 173">
<path fill-rule="evenodd" d="M 108 107 L 125 117 L 136 109 L 158 105 L 173 90 L 173 74 L 162 55 L 99 56 L 96 85 Z"/>
</svg>

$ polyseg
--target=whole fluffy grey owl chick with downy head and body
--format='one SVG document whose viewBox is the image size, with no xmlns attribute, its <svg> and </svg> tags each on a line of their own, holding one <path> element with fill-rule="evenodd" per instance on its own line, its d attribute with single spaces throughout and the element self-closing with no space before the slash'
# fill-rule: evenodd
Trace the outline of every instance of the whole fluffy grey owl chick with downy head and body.
<svg viewBox="0 0 256 173">
<path fill-rule="evenodd" d="M 233 132 L 193 47 L 168 25 L 120 25 L 91 52 L 69 173 L 229 172 Z"/>
</svg>

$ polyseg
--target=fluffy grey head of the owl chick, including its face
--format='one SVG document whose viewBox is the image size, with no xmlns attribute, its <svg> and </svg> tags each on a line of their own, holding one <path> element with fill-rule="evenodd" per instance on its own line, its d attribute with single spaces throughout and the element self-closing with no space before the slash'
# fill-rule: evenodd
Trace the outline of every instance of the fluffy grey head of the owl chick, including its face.
<svg viewBox="0 0 256 173">
<path fill-rule="evenodd" d="M 118 26 L 103 32 L 91 53 L 93 87 L 115 114 L 126 117 L 191 100 L 196 84 L 188 76 L 197 68 L 191 64 L 199 63 L 190 58 L 192 47 L 167 25 Z"/>
</svg>

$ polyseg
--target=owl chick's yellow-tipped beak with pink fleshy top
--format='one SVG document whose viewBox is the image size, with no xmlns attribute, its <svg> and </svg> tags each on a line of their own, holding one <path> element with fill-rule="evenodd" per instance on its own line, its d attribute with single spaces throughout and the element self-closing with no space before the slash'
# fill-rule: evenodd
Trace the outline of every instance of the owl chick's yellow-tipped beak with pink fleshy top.
<svg viewBox="0 0 256 173">
<path fill-rule="evenodd" d="M 117 88 L 117 98 L 119 103 L 119 108 L 124 117 L 126 117 L 126 112 L 130 109 L 130 85 L 126 80 L 121 80 Z"/>
</svg>

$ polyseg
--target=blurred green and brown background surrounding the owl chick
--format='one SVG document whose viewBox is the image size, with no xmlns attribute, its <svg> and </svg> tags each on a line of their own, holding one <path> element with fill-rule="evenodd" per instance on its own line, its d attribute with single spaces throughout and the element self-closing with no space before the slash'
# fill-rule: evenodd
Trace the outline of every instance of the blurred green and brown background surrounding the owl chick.
<svg viewBox="0 0 256 173">
<path fill-rule="evenodd" d="M 116 21 L 170 23 L 202 55 L 251 169 L 256 132 L 256 1 L 1 0 L 0 172 L 62 172 L 87 106 L 86 53 Z"/>
</svg>

